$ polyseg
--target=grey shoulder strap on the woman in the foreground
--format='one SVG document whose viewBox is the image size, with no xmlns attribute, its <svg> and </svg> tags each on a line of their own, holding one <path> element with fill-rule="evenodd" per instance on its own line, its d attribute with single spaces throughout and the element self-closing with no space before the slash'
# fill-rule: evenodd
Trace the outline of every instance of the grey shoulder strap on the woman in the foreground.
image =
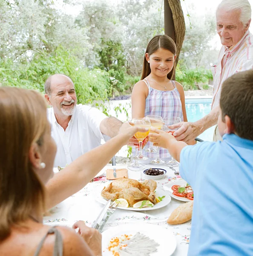
<svg viewBox="0 0 253 256">
<path fill-rule="evenodd" d="M 48 232 L 46 233 L 46 235 L 43 236 L 43 239 L 40 241 L 40 244 L 38 245 L 34 256 L 39 256 L 39 253 L 44 244 L 44 241 L 46 240 L 46 237 L 49 234 L 55 234 L 55 245 L 54 245 L 53 256 L 63 256 L 63 239 L 62 239 L 60 231 L 57 230 L 55 227 L 50 228 L 48 230 Z"/>
</svg>

